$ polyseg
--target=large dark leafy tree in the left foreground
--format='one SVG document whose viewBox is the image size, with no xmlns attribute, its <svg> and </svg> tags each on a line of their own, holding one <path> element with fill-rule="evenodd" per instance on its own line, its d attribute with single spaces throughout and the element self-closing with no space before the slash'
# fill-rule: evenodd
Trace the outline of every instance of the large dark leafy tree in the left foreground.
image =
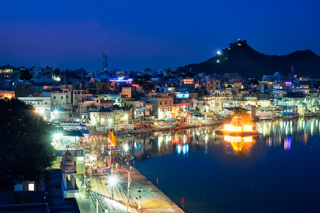
<svg viewBox="0 0 320 213">
<path fill-rule="evenodd" d="M 56 156 L 51 146 L 52 125 L 17 98 L 0 100 L 0 190 L 13 190 L 13 181 L 37 181 Z"/>
</svg>

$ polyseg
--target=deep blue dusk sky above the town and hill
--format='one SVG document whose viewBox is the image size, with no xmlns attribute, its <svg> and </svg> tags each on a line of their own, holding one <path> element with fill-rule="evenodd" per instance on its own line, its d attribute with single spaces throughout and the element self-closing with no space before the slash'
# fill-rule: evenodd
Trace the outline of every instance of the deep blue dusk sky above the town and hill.
<svg viewBox="0 0 320 213">
<path fill-rule="evenodd" d="M 0 65 L 88 71 L 200 63 L 238 38 L 266 55 L 320 56 L 318 0 L 0 0 Z"/>
</svg>

